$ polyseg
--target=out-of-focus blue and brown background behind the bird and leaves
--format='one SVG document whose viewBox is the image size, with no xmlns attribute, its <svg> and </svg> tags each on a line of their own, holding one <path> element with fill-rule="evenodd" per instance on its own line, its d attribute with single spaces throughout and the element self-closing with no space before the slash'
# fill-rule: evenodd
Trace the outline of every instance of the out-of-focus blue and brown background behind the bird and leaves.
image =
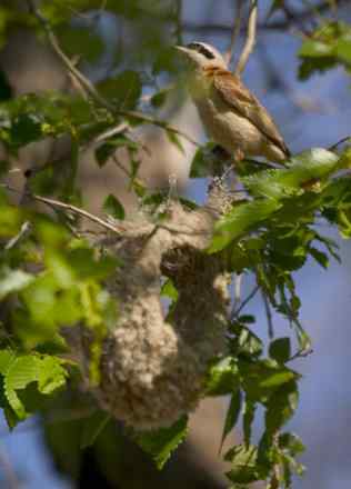
<svg viewBox="0 0 351 489">
<path fill-rule="evenodd" d="M 53 6 L 58 3 L 52 2 Z M 193 139 L 205 141 L 195 110 L 183 89 L 183 79 L 174 77 L 179 67 L 169 47 L 197 40 L 227 50 L 237 2 L 111 0 L 101 1 L 100 8 L 97 2 L 91 3 L 94 3 L 94 9 L 83 14 L 73 12 L 70 28 L 58 30 L 66 52 L 72 58 L 77 57 L 82 71 L 93 81 L 103 80 L 107 73 L 127 68 L 142 72 L 147 80 L 143 93 L 146 104 L 156 89 L 176 83 L 177 88 L 171 90 L 166 106 L 159 110 L 159 118 L 170 120 Z M 351 4 L 337 0 L 274 3 L 285 8 L 273 12 L 267 20 L 272 1 L 259 1 L 257 46 L 243 80 L 269 108 L 292 152 L 319 146 L 327 148 L 351 133 L 350 74 L 337 67 L 300 81 L 298 51 L 308 30 L 320 20 L 319 16 L 351 22 Z M 48 44 L 38 40 L 31 28 L 20 22 L 8 22 L 7 16 L 11 9 L 26 12 L 27 4 L 24 1 L 4 0 L 0 4 L 2 98 L 6 90 L 8 96 L 14 97 L 47 89 L 74 89 Z M 6 31 L 2 26 L 7 26 Z M 84 33 L 81 34 L 81 31 Z M 101 44 L 98 56 L 92 52 L 97 49 L 96 38 Z M 238 39 L 237 53 L 243 41 L 244 31 Z M 89 47 L 90 58 L 86 61 Z M 195 147 L 183 140 L 184 152 L 181 152 L 170 143 L 163 131 L 151 127 L 140 130 L 138 137 L 150 148 L 141 156 L 140 177 L 143 181 L 151 187 L 167 187 L 170 176 L 176 174 L 178 191 L 203 202 L 207 180 L 188 179 Z M 69 142 L 64 140 L 54 148 L 51 141 L 31 144 L 22 150 L 20 163 L 23 168 L 39 166 L 51 151 L 63 154 L 68 146 Z M 121 151 L 118 161 L 123 161 L 123 158 L 126 154 Z M 103 196 L 111 191 L 133 208 L 134 200 L 127 191 L 126 177 L 116 161 L 111 159 L 103 168 L 98 168 L 93 148 L 87 149 L 81 159 L 86 208 L 99 212 Z M 339 239 L 327 227 L 322 231 Z M 303 380 L 300 407 L 291 426 L 308 447 L 302 458 L 308 471 L 303 479 L 295 481 L 299 489 L 340 489 L 351 483 L 351 248 L 349 242 L 340 239 L 339 244 L 341 266 L 334 261 L 328 271 L 323 271 L 315 263 L 308 263 L 297 276 L 298 292 L 302 298 L 301 318 L 312 337 L 314 351 L 314 355 L 294 365 L 303 375 Z M 252 278 L 244 277 L 242 287 L 245 297 L 252 288 Z M 258 331 L 258 335 L 264 336 L 262 305 L 258 299 L 250 307 L 250 312 L 262 319 L 258 321 L 262 323 L 262 331 Z M 288 328 L 279 318 L 274 319 L 278 333 Z M 66 398 L 62 400 L 63 416 L 59 419 L 44 419 L 44 422 L 30 419 L 10 435 L 2 421 L 1 488 L 69 489 L 88 485 L 99 488 L 176 488 L 180 485 L 187 488 L 227 487 L 222 476 L 225 467 L 218 457 L 225 399 L 207 400 L 192 415 L 189 440 L 161 473 L 151 467 L 147 456 L 126 440 L 121 428 L 113 423 L 107 426 L 93 448 L 80 453 L 76 436 L 79 410 L 77 419 L 74 416 L 64 419 L 64 412 L 71 406 L 77 406 L 76 399 Z M 259 423 L 255 430 L 260 432 Z M 233 436 L 240 438 L 240 432 Z"/>
</svg>

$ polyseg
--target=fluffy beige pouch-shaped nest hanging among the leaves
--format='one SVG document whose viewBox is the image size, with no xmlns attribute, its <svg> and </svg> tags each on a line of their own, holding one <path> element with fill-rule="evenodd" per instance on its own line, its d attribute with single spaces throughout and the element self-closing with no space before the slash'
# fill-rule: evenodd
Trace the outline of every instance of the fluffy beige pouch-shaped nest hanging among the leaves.
<svg viewBox="0 0 351 489">
<path fill-rule="evenodd" d="M 104 339 L 93 392 L 128 426 L 167 427 L 193 410 L 204 396 L 209 363 L 225 353 L 229 276 L 222 258 L 204 250 L 228 203 L 214 187 L 207 206 L 189 211 L 171 202 L 162 224 L 143 214 L 103 242 L 122 265 L 107 283 L 118 323 Z M 168 312 L 160 298 L 164 279 L 178 290 Z"/>
</svg>

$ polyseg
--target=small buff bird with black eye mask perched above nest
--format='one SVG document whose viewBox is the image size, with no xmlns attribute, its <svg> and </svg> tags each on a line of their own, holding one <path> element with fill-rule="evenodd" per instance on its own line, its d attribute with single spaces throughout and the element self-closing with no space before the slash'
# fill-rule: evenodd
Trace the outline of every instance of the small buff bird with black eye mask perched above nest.
<svg viewBox="0 0 351 489">
<path fill-rule="evenodd" d="M 190 94 L 208 136 L 235 160 L 264 157 L 282 162 L 290 156 L 273 119 L 222 54 L 204 42 L 177 46 L 190 61 Z"/>
</svg>

